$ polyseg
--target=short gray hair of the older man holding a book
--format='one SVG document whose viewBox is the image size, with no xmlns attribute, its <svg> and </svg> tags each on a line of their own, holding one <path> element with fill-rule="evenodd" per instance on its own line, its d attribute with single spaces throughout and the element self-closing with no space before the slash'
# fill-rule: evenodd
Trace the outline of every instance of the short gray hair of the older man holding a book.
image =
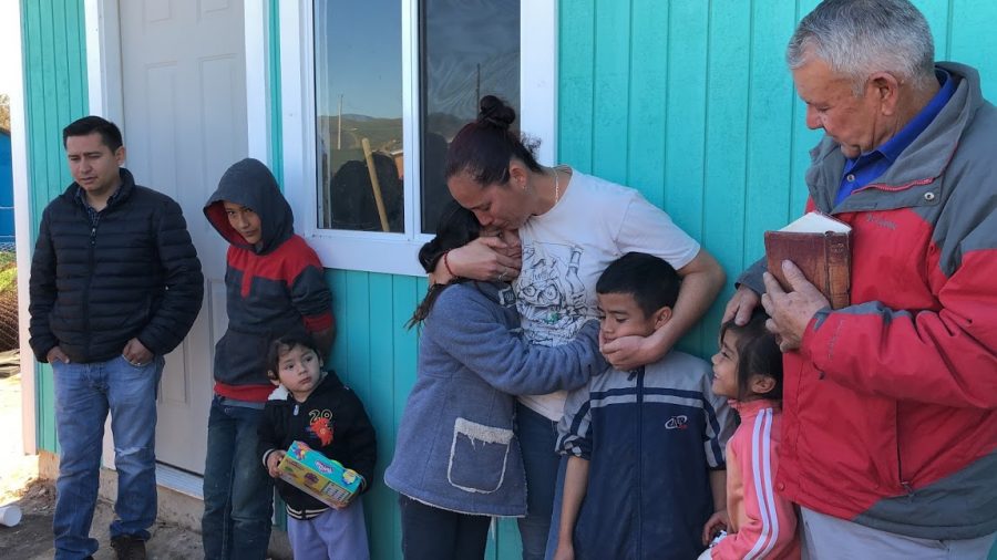
<svg viewBox="0 0 997 560">
<path fill-rule="evenodd" d="M 888 72 L 917 91 L 935 80 L 932 31 L 908 0 L 824 0 L 796 25 L 785 52 L 791 70 L 812 56 L 850 76 L 855 95 L 873 72 Z"/>
</svg>

